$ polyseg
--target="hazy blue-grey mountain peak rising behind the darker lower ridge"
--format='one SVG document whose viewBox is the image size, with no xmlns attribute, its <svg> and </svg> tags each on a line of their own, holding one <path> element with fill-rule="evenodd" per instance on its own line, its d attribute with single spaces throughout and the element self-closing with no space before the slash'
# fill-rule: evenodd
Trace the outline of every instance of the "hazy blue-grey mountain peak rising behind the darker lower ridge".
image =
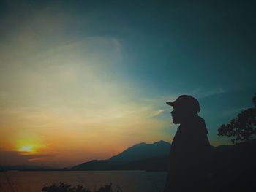
<svg viewBox="0 0 256 192">
<path fill-rule="evenodd" d="M 165 141 L 154 142 L 152 144 L 148 144 L 142 142 L 137 145 L 133 145 L 132 147 L 127 148 L 122 153 L 115 155 L 109 158 L 109 161 L 121 161 L 121 162 L 129 162 L 129 161 L 138 161 L 145 158 L 154 158 L 164 155 L 169 155 L 170 153 L 170 143 Z"/>
</svg>

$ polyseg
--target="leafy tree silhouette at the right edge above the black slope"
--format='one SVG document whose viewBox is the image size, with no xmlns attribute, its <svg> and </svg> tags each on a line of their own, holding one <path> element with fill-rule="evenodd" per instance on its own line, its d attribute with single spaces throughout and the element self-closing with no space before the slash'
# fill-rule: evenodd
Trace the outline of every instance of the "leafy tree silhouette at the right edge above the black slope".
<svg viewBox="0 0 256 192">
<path fill-rule="evenodd" d="M 253 139 L 256 135 L 256 94 L 252 98 L 253 107 L 242 110 L 230 123 L 223 124 L 218 128 L 220 137 L 235 137 L 233 143 L 245 142 Z"/>
</svg>

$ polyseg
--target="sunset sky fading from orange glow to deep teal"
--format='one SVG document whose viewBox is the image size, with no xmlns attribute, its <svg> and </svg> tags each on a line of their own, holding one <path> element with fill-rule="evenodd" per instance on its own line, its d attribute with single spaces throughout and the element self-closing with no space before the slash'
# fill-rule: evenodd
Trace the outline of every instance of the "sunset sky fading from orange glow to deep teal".
<svg viewBox="0 0 256 192">
<path fill-rule="evenodd" d="M 74 166 L 172 142 L 195 96 L 211 145 L 256 93 L 255 1 L 1 1 L 0 163 Z"/>
</svg>

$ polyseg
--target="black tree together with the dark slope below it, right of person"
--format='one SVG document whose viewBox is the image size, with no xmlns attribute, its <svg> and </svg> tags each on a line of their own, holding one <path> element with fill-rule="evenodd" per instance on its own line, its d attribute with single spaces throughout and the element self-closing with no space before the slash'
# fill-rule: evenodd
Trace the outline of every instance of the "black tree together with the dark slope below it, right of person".
<svg viewBox="0 0 256 192">
<path fill-rule="evenodd" d="M 253 106 L 223 124 L 220 137 L 233 138 L 234 145 L 212 150 L 211 183 L 213 191 L 254 191 L 256 183 L 256 95 Z"/>
</svg>

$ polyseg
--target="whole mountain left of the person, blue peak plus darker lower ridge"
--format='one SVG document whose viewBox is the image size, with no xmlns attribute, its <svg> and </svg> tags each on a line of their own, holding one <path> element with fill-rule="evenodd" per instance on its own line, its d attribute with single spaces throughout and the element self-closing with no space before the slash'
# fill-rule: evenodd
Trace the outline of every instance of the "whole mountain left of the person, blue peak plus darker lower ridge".
<svg viewBox="0 0 256 192">
<path fill-rule="evenodd" d="M 72 170 L 144 170 L 147 167 L 154 169 L 153 165 L 157 167 L 158 161 L 167 161 L 169 153 L 169 142 L 162 140 L 152 144 L 142 142 L 107 160 L 89 161 L 73 166 Z M 141 166 L 142 164 L 144 166 Z"/>
</svg>

